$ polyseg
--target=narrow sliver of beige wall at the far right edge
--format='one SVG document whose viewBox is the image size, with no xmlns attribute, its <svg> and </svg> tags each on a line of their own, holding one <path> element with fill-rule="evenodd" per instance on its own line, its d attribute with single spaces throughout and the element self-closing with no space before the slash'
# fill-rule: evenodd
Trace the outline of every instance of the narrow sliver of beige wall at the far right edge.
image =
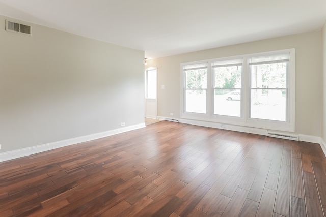
<svg viewBox="0 0 326 217">
<path fill-rule="evenodd" d="M 323 78 L 322 78 L 322 133 L 321 138 L 326 142 L 326 22 L 321 30 L 322 32 L 322 63 L 323 63 Z M 326 153 L 325 153 L 326 154 Z"/>
</svg>

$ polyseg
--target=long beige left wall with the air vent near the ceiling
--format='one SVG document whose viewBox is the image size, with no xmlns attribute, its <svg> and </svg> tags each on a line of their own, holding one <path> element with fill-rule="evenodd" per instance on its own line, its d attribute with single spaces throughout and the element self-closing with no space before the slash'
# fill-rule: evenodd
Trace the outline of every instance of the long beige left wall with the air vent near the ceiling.
<svg viewBox="0 0 326 217">
<path fill-rule="evenodd" d="M 144 122 L 144 51 L 0 16 L 0 152 Z"/>
</svg>

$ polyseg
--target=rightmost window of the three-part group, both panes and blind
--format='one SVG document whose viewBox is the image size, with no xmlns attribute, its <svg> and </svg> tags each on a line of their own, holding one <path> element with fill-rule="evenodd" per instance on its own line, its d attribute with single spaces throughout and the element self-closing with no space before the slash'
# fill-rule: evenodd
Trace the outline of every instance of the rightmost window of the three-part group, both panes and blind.
<svg viewBox="0 0 326 217">
<path fill-rule="evenodd" d="M 252 118 L 286 121 L 289 53 L 250 58 Z"/>
</svg>

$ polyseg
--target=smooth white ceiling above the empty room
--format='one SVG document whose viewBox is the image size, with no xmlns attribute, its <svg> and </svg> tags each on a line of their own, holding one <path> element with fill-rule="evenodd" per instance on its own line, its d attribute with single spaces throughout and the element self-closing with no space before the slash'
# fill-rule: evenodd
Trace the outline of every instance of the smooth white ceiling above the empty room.
<svg viewBox="0 0 326 217">
<path fill-rule="evenodd" d="M 326 0 L 0 0 L 0 14 L 156 58 L 319 30 Z"/>
</svg>

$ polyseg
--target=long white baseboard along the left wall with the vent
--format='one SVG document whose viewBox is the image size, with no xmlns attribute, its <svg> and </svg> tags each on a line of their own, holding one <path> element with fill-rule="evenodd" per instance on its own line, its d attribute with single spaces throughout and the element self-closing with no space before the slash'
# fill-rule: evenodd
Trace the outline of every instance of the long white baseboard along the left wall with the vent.
<svg viewBox="0 0 326 217">
<path fill-rule="evenodd" d="M 21 158 L 21 157 L 29 156 L 31 154 L 40 153 L 43 151 L 48 151 L 48 150 L 65 147 L 65 146 L 69 146 L 69 145 L 73 145 L 73 144 L 87 142 L 87 141 L 91 141 L 94 139 L 100 139 L 103 137 L 112 136 L 115 134 L 124 133 L 127 131 L 136 130 L 136 129 L 140 129 L 140 128 L 144 128 L 144 127 L 145 127 L 145 123 L 140 123 L 139 125 L 133 125 L 133 126 L 114 129 L 114 130 L 110 130 L 110 131 L 94 133 L 94 134 L 90 134 L 90 135 L 86 135 L 86 136 L 65 139 L 65 140 L 61 140 L 61 141 L 57 141 L 57 142 L 51 142 L 51 143 L 47 143 L 47 144 L 37 145 L 37 146 L 33 146 L 33 147 L 28 147 L 28 148 L 22 148 L 22 149 L 13 150 L 13 151 L 7 151 L 4 153 L 0 153 L 0 162 L 8 161 L 8 160 L 16 159 L 16 158 Z"/>
</svg>

